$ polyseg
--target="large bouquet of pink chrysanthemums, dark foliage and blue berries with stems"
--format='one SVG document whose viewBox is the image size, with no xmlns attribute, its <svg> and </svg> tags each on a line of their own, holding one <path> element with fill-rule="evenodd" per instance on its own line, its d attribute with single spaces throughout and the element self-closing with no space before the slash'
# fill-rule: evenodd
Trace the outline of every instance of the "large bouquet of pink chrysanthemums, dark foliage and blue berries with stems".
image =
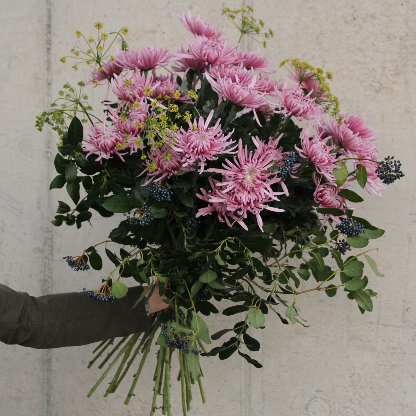
<svg viewBox="0 0 416 416">
<path fill-rule="evenodd" d="M 252 12 L 223 10 L 241 36 L 272 37 Z M 107 33 L 97 22 L 97 38 L 77 31 L 88 49 L 71 50 L 73 68 L 91 66 L 87 81 L 64 84 L 37 119 L 39 129 L 51 124 L 60 137 L 50 188 L 66 186 L 72 200 L 59 201 L 52 223 L 81 228 L 94 212 L 112 224 L 107 240 L 64 257 L 75 271 L 101 270 L 104 254 L 114 263 L 86 296 L 113 302 L 126 295 L 127 278 L 146 287 L 137 302 L 155 290 L 166 296 L 168 308 L 151 315 L 149 332 L 102 342 L 89 364 L 109 349 L 89 393 L 114 369 L 107 396 L 137 358 L 128 404 L 156 343 L 151 415 L 158 407 L 171 414 L 173 359 L 184 415 L 192 384 L 205 401 L 206 357 L 237 352 L 260 368 L 252 352 L 260 349 L 255 332 L 264 315 L 305 326 L 300 295 L 341 291 L 370 312 L 376 293 L 367 273 L 383 275 L 369 255 L 377 249 L 366 246 L 384 230 L 355 215 L 359 191 L 381 196 L 404 176 L 394 156 L 379 158 L 364 116 L 339 109 L 332 74 L 287 59 L 280 66 L 288 76 L 277 81 L 266 75 L 275 70 L 260 51 L 238 50 L 198 14 L 179 18 L 194 37 L 174 53 L 129 49 L 127 28 Z M 87 84 L 103 87 L 97 115 Z M 218 302 L 226 302 L 224 315 L 244 319 L 208 329 L 203 316 L 219 313 Z"/>
</svg>

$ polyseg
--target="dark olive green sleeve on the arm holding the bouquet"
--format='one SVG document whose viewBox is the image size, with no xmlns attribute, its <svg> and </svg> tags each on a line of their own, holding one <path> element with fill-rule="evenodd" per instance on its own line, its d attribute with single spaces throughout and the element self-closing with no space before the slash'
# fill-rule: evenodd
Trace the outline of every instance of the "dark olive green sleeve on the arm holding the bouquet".
<svg viewBox="0 0 416 416">
<path fill-rule="evenodd" d="M 0 284 L 0 341 L 32 348 L 84 345 L 150 328 L 142 288 L 130 287 L 115 302 L 98 302 L 86 292 L 33 297 Z"/>
</svg>

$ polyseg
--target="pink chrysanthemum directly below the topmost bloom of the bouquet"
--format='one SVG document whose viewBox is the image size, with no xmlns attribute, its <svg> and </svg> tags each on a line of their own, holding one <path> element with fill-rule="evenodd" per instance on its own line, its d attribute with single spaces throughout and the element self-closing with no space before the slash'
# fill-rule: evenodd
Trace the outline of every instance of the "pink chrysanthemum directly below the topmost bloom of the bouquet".
<svg viewBox="0 0 416 416">
<path fill-rule="evenodd" d="M 192 42 L 185 40 L 189 52 L 176 54 L 179 58 L 200 59 L 211 65 L 228 65 L 237 61 L 237 46 L 228 45 L 225 39 L 197 35 Z"/>
</svg>

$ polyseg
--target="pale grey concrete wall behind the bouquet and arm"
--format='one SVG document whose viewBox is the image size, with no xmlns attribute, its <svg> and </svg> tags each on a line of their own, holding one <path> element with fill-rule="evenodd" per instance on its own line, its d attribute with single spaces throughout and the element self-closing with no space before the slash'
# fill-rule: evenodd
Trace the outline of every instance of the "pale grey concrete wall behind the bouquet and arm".
<svg viewBox="0 0 416 416">
<path fill-rule="evenodd" d="M 93 228 L 52 228 L 56 201 L 64 194 L 48 191 L 54 176 L 53 132 L 39 133 L 35 116 L 47 108 L 67 80 L 84 75 L 62 65 L 76 38 L 74 31 L 94 33 L 128 26 L 130 45 L 161 45 L 171 50 L 188 35 L 175 13 L 189 8 L 206 22 L 237 35 L 220 10 L 229 2 L 161 0 L 72 1 L 2 0 L 0 25 L 0 268 L 2 282 L 33 295 L 94 286 L 97 272 L 71 273 L 62 257 L 106 237 L 111 224 L 94 216 Z M 415 29 L 414 1 L 253 0 L 255 15 L 275 31 L 263 52 L 278 64 L 299 57 L 334 73 L 333 92 L 342 109 L 365 113 L 379 132 L 380 153 L 400 157 L 405 178 L 389 186 L 384 197 L 368 196 L 359 211 L 380 228 L 373 247 L 383 279 L 371 275 L 379 295 L 374 311 L 362 316 L 342 294 L 328 298 L 312 292 L 298 300 L 310 328 L 283 327 L 271 314 L 256 358 L 263 369 L 240 357 L 226 362 L 203 360 L 208 403 L 197 391 L 191 415 L 241 416 L 380 416 L 416 414 L 415 252 Z M 245 41 L 246 48 L 257 49 Z M 277 77 L 285 72 L 280 71 Z M 93 101 L 103 94 L 92 90 Z M 69 199 L 69 198 L 66 198 Z M 63 228 L 65 227 L 65 228 Z M 210 327 L 227 327 L 223 316 L 207 319 Z M 152 363 L 141 376 L 136 396 L 122 404 L 127 384 L 102 398 L 105 387 L 87 399 L 101 372 L 87 370 L 92 346 L 37 351 L 1 345 L 0 414 L 146 415 L 150 405 Z M 180 409 L 173 383 L 174 408 Z M 178 412 L 176 412 L 178 413 Z"/>
</svg>

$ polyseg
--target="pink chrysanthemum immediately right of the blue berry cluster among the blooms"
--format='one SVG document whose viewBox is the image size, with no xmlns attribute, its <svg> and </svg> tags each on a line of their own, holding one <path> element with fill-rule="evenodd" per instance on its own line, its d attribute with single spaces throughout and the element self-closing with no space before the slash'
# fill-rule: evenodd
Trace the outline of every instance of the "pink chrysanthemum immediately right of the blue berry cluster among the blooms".
<svg viewBox="0 0 416 416">
<path fill-rule="evenodd" d="M 334 175 L 332 172 L 335 166 L 335 162 L 338 161 L 337 154 L 331 153 L 331 150 L 335 148 L 335 145 L 328 146 L 327 141 L 329 137 L 322 139 L 322 133 L 317 133 L 314 135 L 312 140 L 309 140 L 309 124 L 305 129 L 302 130 L 300 135 L 300 143 L 302 149 L 299 149 L 295 146 L 295 149 L 299 151 L 300 156 L 306 159 L 310 159 L 315 165 L 315 168 L 318 173 L 320 173 L 324 178 L 333 183 Z"/>
</svg>

